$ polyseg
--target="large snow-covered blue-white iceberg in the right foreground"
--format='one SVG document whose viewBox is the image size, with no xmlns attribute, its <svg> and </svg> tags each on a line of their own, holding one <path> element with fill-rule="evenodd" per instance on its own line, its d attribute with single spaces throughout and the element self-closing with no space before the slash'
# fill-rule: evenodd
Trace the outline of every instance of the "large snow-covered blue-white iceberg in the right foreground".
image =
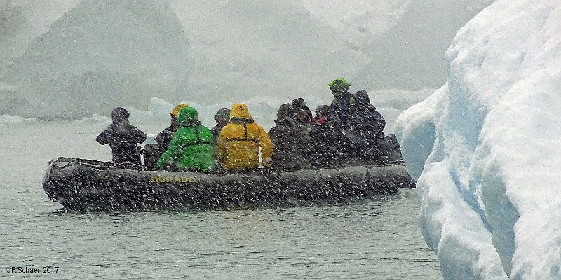
<svg viewBox="0 0 561 280">
<path fill-rule="evenodd" d="M 496 1 L 398 118 L 445 279 L 561 279 L 560 30 L 560 1 Z"/>
</svg>

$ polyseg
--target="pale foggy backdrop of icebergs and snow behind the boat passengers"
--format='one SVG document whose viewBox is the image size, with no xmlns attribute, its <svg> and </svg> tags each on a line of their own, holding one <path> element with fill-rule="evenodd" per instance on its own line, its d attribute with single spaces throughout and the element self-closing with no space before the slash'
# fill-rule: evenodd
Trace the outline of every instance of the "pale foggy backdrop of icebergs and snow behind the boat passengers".
<svg viewBox="0 0 561 280">
<path fill-rule="evenodd" d="M 393 128 L 445 83 L 454 34 L 492 2 L 0 0 L 0 115 L 108 116 L 157 97 L 207 117 L 246 102 L 271 121 L 297 97 L 329 104 L 344 77 Z"/>
</svg>

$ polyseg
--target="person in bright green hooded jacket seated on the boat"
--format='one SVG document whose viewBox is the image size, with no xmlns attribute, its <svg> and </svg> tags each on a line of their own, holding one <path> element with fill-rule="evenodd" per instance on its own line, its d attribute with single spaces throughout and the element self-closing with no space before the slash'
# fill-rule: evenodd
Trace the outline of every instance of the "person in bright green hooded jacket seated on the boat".
<svg viewBox="0 0 561 280">
<path fill-rule="evenodd" d="M 158 167 L 175 167 L 196 171 L 215 168 L 212 132 L 201 125 L 197 110 L 193 107 L 181 109 L 177 116 L 179 128 L 173 134 L 168 149 L 156 163 Z"/>
</svg>

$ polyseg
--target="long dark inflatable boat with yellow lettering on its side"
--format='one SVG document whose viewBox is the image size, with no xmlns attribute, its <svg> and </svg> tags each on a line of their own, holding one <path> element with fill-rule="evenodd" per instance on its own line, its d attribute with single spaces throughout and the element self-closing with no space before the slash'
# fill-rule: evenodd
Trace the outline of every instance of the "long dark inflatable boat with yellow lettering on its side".
<svg viewBox="0 0 561 280">
<path fill-rule="evenodd" d="M 403 162 L 294 172 L 177 172 L 80 158 L 49 162 L 50 200 L 78 211 L 221 209 L 313 204 L 414 188 Z"/>
</svg>

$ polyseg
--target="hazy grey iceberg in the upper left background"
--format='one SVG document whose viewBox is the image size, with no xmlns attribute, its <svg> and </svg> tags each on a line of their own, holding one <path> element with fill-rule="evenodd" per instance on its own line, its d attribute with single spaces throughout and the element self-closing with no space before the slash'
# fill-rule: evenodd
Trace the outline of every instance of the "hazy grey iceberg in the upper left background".
<svg viewBox="0 0 561 280">
<path fill-rule="evenodd" d="M 0 69 L 11 87 L 0 88 L 0 111 L 75 120 L 144 108 L 152 96 L 180 100 L 190 64 L 190 42 L 169 3 L 83 0 Z"/>
</svg>

